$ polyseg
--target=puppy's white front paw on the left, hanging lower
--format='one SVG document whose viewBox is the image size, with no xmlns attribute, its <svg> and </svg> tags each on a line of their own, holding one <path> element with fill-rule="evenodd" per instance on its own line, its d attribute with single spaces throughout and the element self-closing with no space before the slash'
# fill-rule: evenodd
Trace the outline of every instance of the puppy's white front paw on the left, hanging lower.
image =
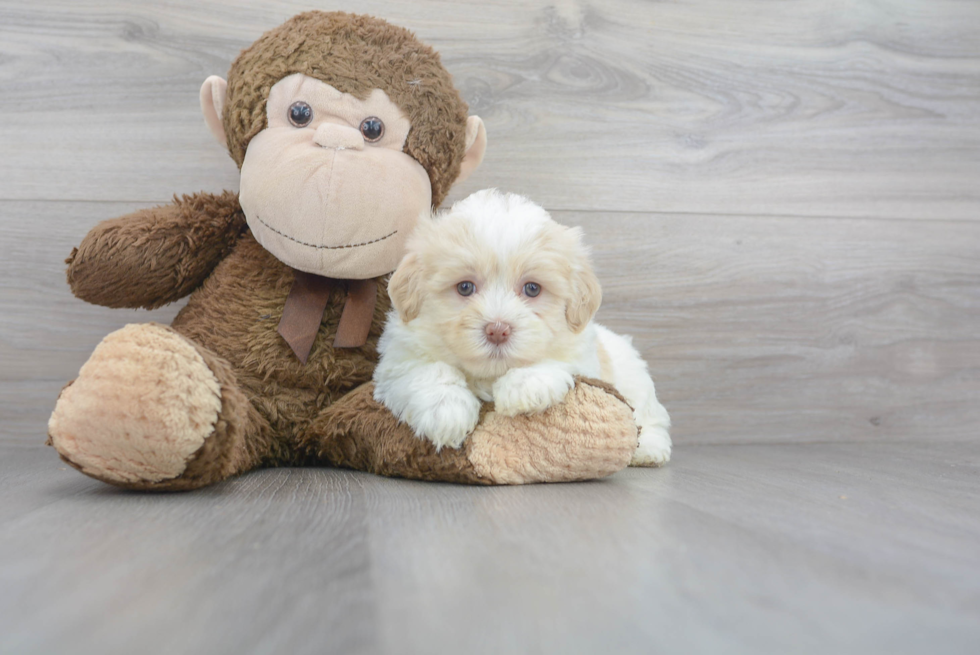
<svg viewBox="0 0 980 655">
<path fill-rule="evenodd" d="M 423 402 L 413 403 L 405 422 L 415 434 L 436 446 L 459 448 L 480 420 L 480 401 L 466 387 L 431 389 Z"/>
</svg>

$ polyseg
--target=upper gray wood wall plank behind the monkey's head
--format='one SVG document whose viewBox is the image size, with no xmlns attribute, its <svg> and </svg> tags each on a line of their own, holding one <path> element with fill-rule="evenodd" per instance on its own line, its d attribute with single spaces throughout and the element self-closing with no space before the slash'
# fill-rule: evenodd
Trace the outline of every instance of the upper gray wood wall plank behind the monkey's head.
<svg viewBox="0 0 980 655">
<path fill-rule="evenodd" d="M 234 188 L 197 89 L 306 3 L 0 4 L 0 198 Z M 975 220 L 980 5 L 365 1 L 444 55 L 548 207 Z M 458 195 L 455 197 L 458 197 Z"/>
</svg>

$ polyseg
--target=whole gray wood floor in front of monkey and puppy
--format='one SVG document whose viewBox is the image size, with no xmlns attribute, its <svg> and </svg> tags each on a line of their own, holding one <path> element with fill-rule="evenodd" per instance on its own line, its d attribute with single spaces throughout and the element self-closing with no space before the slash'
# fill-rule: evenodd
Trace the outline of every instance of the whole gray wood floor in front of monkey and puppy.
<svg viewBox="0 0 980 655">
<path fill-rule="evenodd" d="M 11 491 L 14 493 L 11 494 Z M 681 446 L 465 488 L 133 494 L 0 445 L 0 652 L 971 653 L 980 447 Z"/>
</svg>

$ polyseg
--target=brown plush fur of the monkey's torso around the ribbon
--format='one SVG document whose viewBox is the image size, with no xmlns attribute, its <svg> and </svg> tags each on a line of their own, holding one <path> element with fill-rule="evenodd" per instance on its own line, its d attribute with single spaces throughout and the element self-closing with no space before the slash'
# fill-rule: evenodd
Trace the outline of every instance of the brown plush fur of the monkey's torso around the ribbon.
<svg viewBox="0 0 980 655">
<path fill-rule="evenodd" d="M 173 327 L 236 371 L 239 386 L 277 436 L 267 457 L 298 463 L 301 457 L 292 446 L 298 427 L 371 379 L 384 315 L 391 306 L 386 278 L 378 282 L 367 343 L 361 348 L 332 346 L 345 299 L 343 290 L 335 289 L 304 365 L 276 332 L 293 271 L 246 232 L 191 296 Z"/>
</svg>

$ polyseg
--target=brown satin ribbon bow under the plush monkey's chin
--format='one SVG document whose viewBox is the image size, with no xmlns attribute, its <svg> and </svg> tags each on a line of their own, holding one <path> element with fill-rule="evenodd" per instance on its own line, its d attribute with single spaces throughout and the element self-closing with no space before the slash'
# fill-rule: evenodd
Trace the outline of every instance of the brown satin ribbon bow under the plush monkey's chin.
<svg viewBox="0 0 980 655">
<path fill-rule="evenodd" d="M 333 347 L 358 348 L 367 343 L 374 305 L 378 300 L 378 283 L 375 280 L 337 280 L 297 270 L 293 274 L 293 287 L 286 297 L 276 331 L 293 349 L 299 361 L 306 364 L 320 331 L 330 293 L 338 287 L 347 289 L 347 300 L 337 325 Z"/>
</svg>

